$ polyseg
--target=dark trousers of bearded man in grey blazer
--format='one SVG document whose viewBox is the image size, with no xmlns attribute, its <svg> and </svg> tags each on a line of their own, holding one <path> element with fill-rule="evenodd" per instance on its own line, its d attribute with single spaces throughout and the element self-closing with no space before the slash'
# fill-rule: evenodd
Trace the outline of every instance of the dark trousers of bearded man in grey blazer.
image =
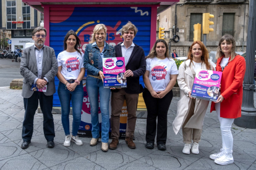
<svg viewBox="0 0 256 170">
<path fill-rule="evenodd" d="M 25 116 L 22 127 L 22 139 L 30 142 L 33 134 L 33 121 L 35 111 L 38 108 L 38 99 L 43 112 L 43 132 L 47 141 L 53 141 L 55 137 L 53 123 L 53 95 L 45 95 L 43 92 L 34 92 L 30 98 L 23 98 Z"/>
</svg>

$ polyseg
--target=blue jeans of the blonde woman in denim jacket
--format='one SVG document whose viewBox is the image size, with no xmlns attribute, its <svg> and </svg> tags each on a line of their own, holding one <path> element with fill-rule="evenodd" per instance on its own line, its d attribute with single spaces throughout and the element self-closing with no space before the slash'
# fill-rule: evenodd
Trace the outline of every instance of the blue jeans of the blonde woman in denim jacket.
<svg viewBox="0 0 256 170">
<path fill-rule="evenodd" d="M 92 117 L 92 137 L 100 137 L 99 124 L 99 101 L 100 93 L 100 111 L 101 111 L 101 142 L 108 143 L 109 139 L 109 97 L 110 89 L 104 89 L 101 79 L 87 76 L 86 88 L 90 99 L 91 117 Z"/>
</svg>

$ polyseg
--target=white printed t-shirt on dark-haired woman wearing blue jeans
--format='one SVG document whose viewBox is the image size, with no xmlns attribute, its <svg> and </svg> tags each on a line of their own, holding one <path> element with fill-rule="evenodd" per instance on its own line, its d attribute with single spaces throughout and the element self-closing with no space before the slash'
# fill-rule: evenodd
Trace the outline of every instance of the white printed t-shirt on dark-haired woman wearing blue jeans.
<svg viewBox="0 0 256 170">
<path fill-rule="evenodd" d="M 82 53 L 82 52 L 81 52 Z M 62 66 L 61 74 L 66 80 L 77 79 L 83 68 L 83 53 L 62 51 L 58 55 L 58 67 Z"/>
</svg>

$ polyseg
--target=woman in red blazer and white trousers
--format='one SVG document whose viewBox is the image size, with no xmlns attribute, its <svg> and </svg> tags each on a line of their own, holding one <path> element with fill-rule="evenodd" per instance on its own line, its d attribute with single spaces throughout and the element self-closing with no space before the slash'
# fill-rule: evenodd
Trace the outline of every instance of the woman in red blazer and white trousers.
<svg viewBox="0 0 256 170">
<path fill-rule="evenodd" d="M 220 121 L 222 148 L 210 158 L 221 165 L 234 162 L 231 126 L 235 118 L 241 117 L 245 59 L 234 52 L 235 48 L 236 40 L 230 34 L 225 34 L 220 39 L 216 55 L 216 71 L 222 71 L 221 95 L 216 102 L 211 102 L 211 111 L 216 110 Z"/>
</svg>

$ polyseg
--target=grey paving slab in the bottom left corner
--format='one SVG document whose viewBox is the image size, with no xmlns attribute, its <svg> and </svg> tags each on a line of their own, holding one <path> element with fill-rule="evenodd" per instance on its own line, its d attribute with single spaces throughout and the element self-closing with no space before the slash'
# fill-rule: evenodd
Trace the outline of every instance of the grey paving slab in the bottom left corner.
<svg viewBox="0 0 256 170">
<path fill-rule="evenodd" d="M 0 161 L 0 169 L 46 169 L 47 167 L 31 155 L 24 154 Z"/>
</svg>

